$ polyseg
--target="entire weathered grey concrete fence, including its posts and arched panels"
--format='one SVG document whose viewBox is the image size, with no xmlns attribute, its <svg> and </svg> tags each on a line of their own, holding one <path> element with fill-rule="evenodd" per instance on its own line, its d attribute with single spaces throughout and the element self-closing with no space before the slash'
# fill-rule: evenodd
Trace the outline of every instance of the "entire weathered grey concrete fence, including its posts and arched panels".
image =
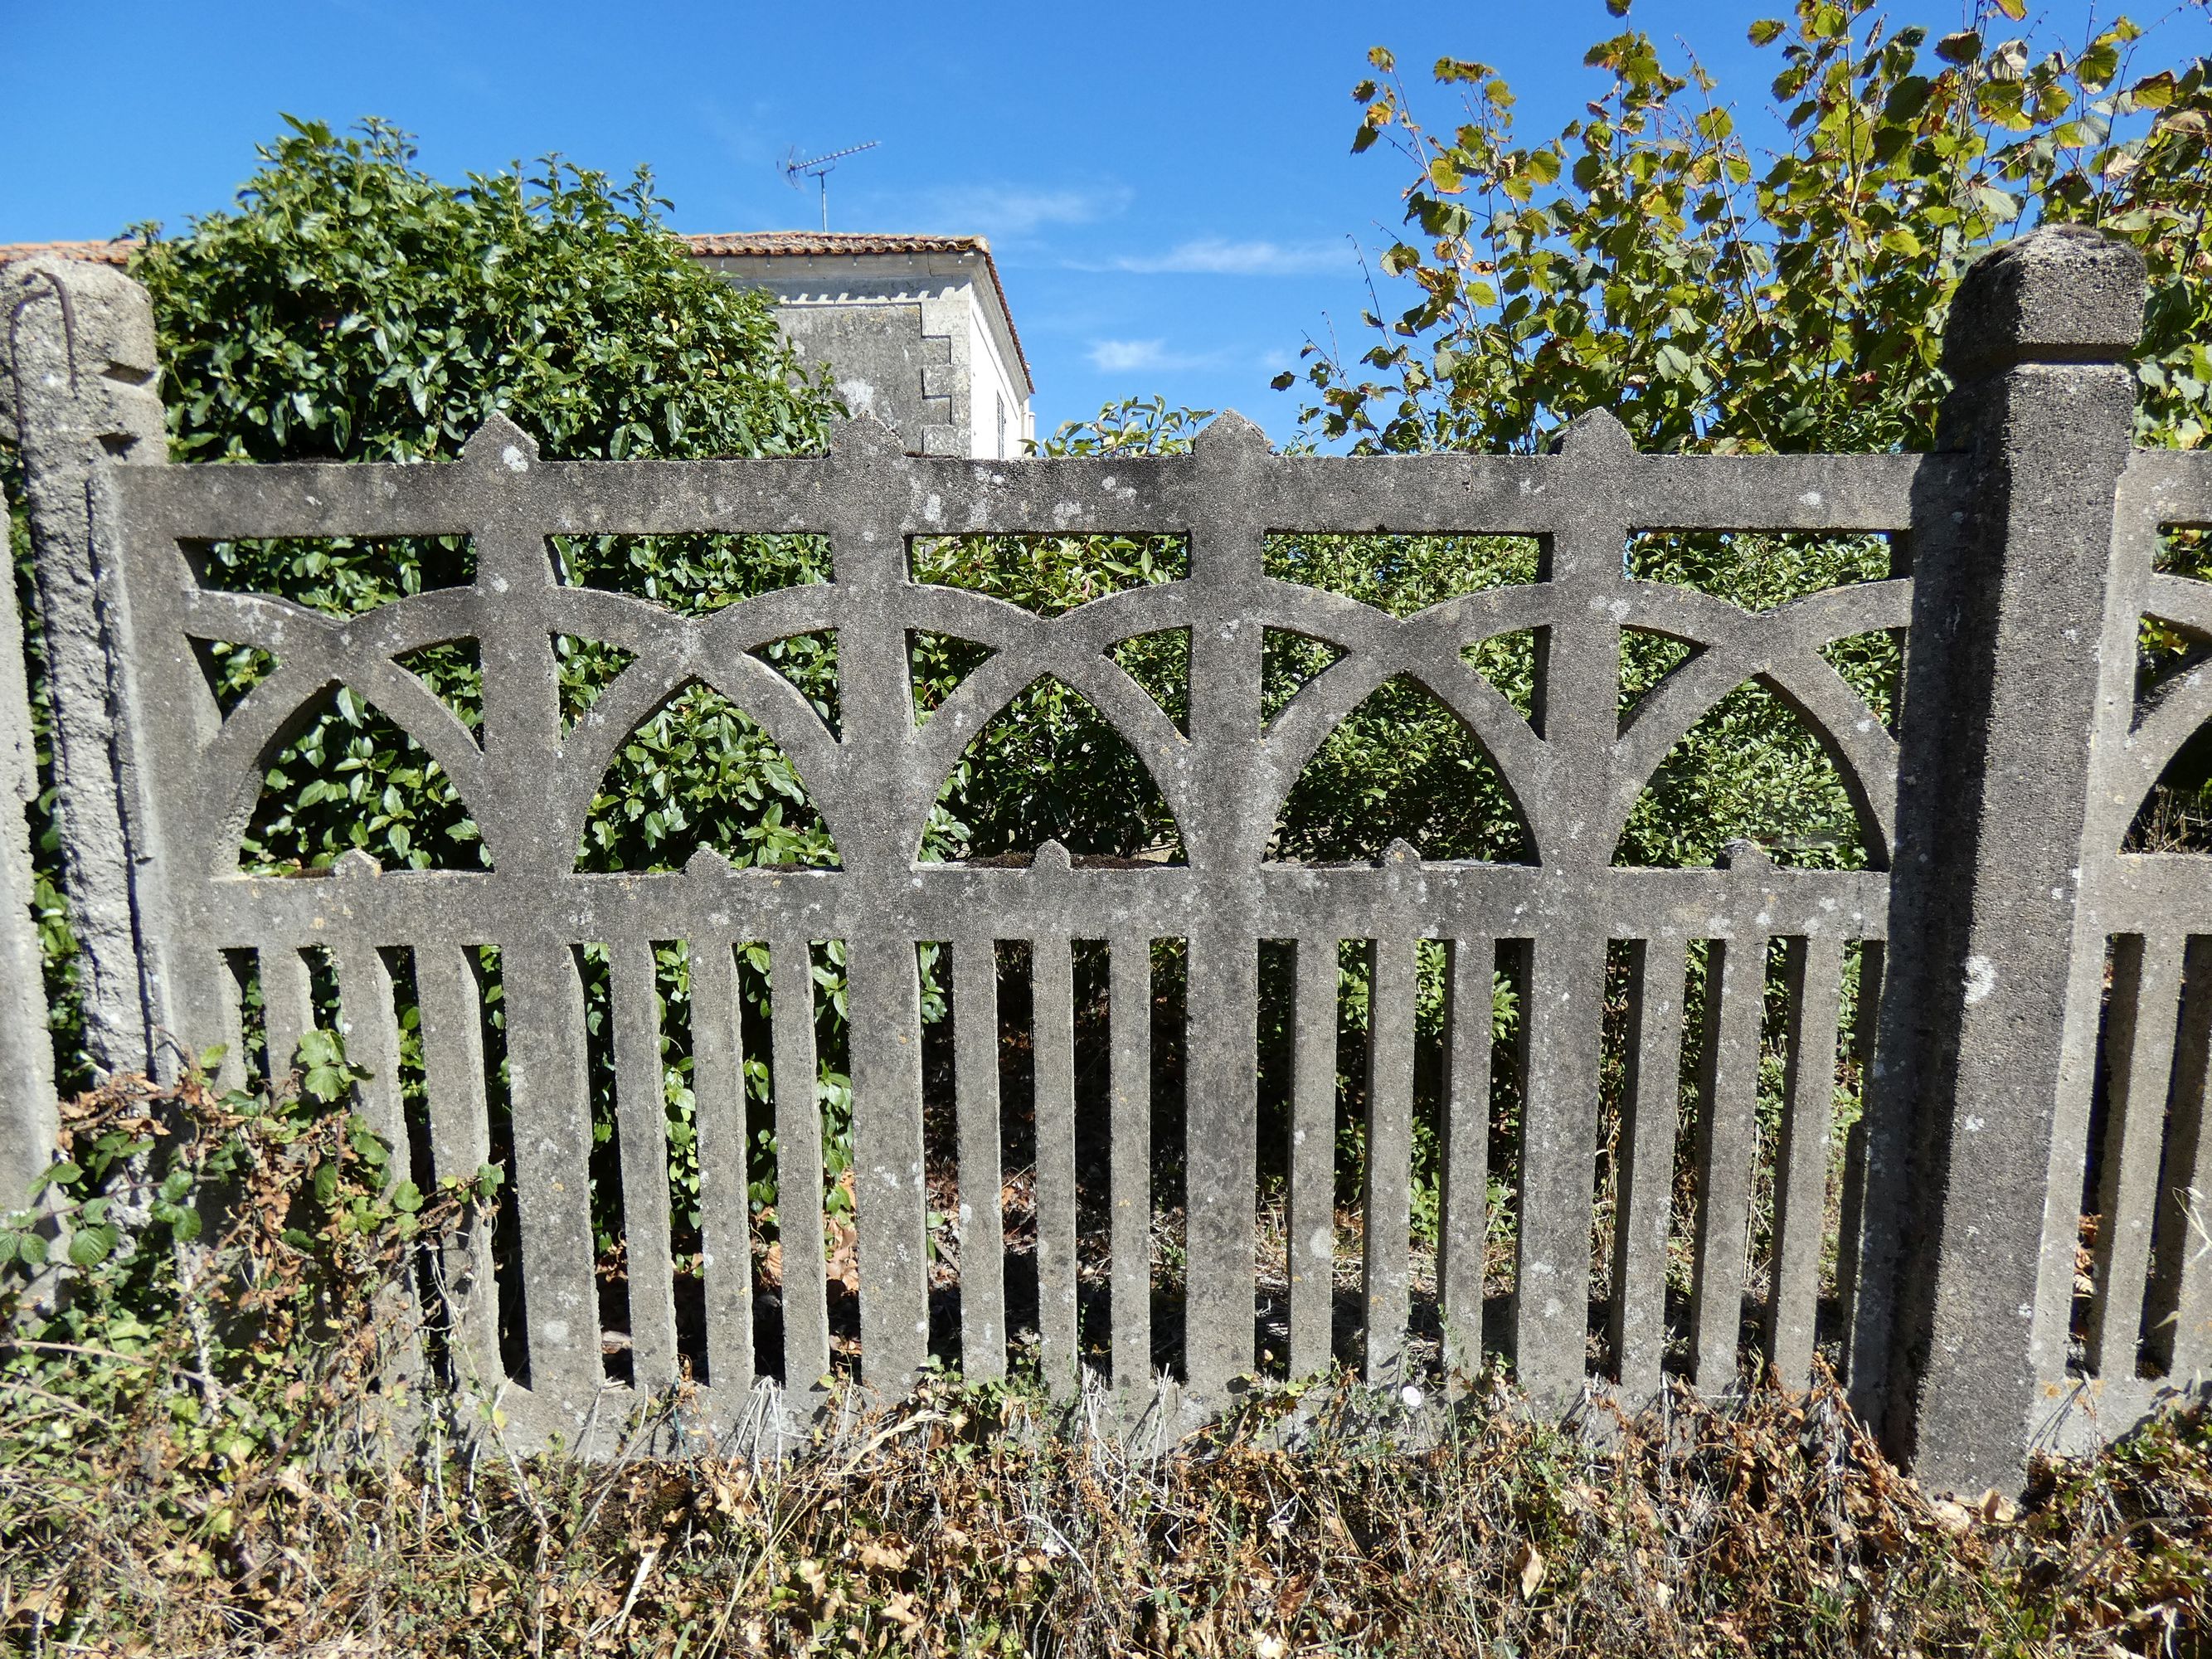
<svg viewBox="0 0 2212 1659">
<path fill-rule="evenodd" d="M 1312 1371 L 1332 1354 L 1338 947 L 1367 947 L 1369 1073 L 1354 1352 L 1374 1383 L 1427 1365 L 1409 1340 L 1416 949 L 1447 945 L 1436 1301 L 1442 1356 L 1511 1360 L 1548 1407 L 1590 1389 L 1635 1405 L 1666 1367 L 1708 1389 L 1752 1365 L 1812 1374 L 1823 1254 L 1834 1252 L 1840 1356 L 1854 1402 L 1938 1484 L 2017 1482 L 2035 1442 L 2135 1422 L 2212 1365 L 2212 1254 L 2197 1192 L 2212 1062 L 2212 865 L 2124 854 L 2137 810 L 2212 719 L 2212 675 L 2137 699 L 2137 626 L 2157 615 L 2212 637 L 2212 588 L 2154 573 L 2159 538 L 2212 524 L 2212 458 L 2130 449 L 2141 272 L 2095 234 L 2037 232 L 1973 268 L 1947 338 L 1958 392 L 1940 453 L 1639 456 L 1606 414 L 1542 458 L 1292 458 L 1223 416 L 1177 458 L 967 462 L 902 456 L 867 422 L 825 458 L 551 462 L 491 420 L 451 465 L 173 467 L 161 453 L 144 294 L 119 272 L 11 268 L 15 405 L 53 670 L 55 781 L 69 896 L 86 951 L 88 1040 L 106 1066 L 173 1068 L 248 1024 L 270 1055 L 316 1020 L 334 980 L 363 1108 L 418 1179 L 491 1155 L 482 947 L 495 947 L 518 1237 L 453 1263 L 456 1354 L 504 1383 L 518 1433 L 571 1444 L 619 1418 L 628 1389 L 684 1367 L 670 1248 L 661 1004 L 655 947 L 690 951 L 701 1168 L 699 1321 L 690 1369 L 710 1420 L 748 1402 L 803 1405 L 832 1371 L 823 1228 L 790 1223 L 821 1188 L 816 975 L 843 945 L 849 1009 L 858 1363 L 900 1389 L 931 1354 L 922 967 L 949 962 L 953 1026 L 958 1332 L 969 1376 L 1006 1367 L 995 947 L 1029 945 L 1035 1062 L 1035 1327 L 1053 1387 L 1093 1367 L 1155 1398 L 1155 947 L 1186 980 L 1181 1340 L 1164 1360 L 1183 1416 L 1254 1369 Z M 566 584 L 551 535 L 812 533 L 834 582 L 677 615 Z M 1270 533 L 1537 538 L 1533 584 L 1391 617 L 1263 571 Z M 1637 533 L 1882 535 L 1893 573 L 1747 613 L 1632 580 Z M 1183 580 L 1060 617 L 911 580 L 914 538 L 1172 533 Z M 217 591 L 197 551 L 232 538 L 465 535 L 473 582 L 356 617 Z M 1188 721 L 1113 659 L 1117 641 L 1181 628 Z M 754 650 L 832 630 L 836 721 Z M 1340 657 L 1263 717 L 1265 630 Z M 1540 695 L 1517 712 L 1462 659 L 1533 630 Z M 1621 712 L 1621 635 L 1692 648 Z M 1823 646 L 1909 641 L 1896 730 Z M 927 719 L 907 641 L 951 635 L 993 653 Z M 555 637 L 633 661 L 564 719 Z M 254 646 L 274 670 L 228 714 L 197 641 Z M 473 641 L 480 730 L 398 659 Z M 9 641 L 0 641 L 9 644 Z M 918 863 L 922 825 L 969 741 L 1037 677 L 1057 677 L 1150 770 L 1181 863 L 1102 867 L 1046 843 L 1026 867 Z M 1383 681 L 1411 677 L 1480 741 L 1524 821 L 1531 863 L 1270 860 L 1279 807 L 1329 732 Z M 1739 843 L 1714 869 L 1615 865 L 1628 812 L 1670 748 L 1756 681 L 1820 739 L 1863 821 L 1869 869 L 1776 867 Z M 321 878 L 239 874 L 239 838 L 270 761 L 319 697 L 349 686 L 451 779 L 482 830 L 484 872 L 380 872 L 347 854 Z M 686 686 L 739 703 L 792 759 L 836 843 L 836 869 L 732 869 L 701 854 L 668 874 L 580 874 L 593 792 L 628 734 Z M 22 710 L 0 721 L 18 739 Z M 0 743 L 0 759 L 7 757 Z M 22 849 L 0 843 L 9 880 Z M 13 911 L 20 896 L 7 889 Z M 1075 953 L 1104 940 L 1108 1104 L 1077 1110 Z M 1294 951 L 1287 1270 L 1281 1338 L 1256 1336 L 1259 973 Z M 1778 942 L 1778 945 L 1776 945 Z M 611 1383 L 588 1214 L 591 1099 L 580 951 L 604 953 L 617 1093 L 628 1383 Z M 741 1018 L 737 975 L 765 949 L 772 1020 Z M 1761 1150 L 1767 960 L 1781 960 L 1787 1075 Z M 7 945 L 7 949 L 15 949 Z M 1686 1022 L 1692 951 L 1705 1009 Z M 13 958 L 11 958 L 13 960 Z M 597 953 L 595 953 L 597 960 Z M 1608 962 L 1628 980 L 1617 1181 L 1595 1214 Z M 1626 964 L 1626 967 L 1621 967 Z M 1522 995 L 1517 1152 L 1506 1203 L 1511 1296 L 1484 1318 L 1491 1155 L 1491 987 Z M 1860 1018 L 1838 1033 L 1849 973 Z M 425 1119 L 409 1135 L 396 982 L 420 1006 Z M 2110 984 L 2108 984 L 2110 980 Z M 1878 987 L 1878 998 L 1876 998 Z M 1874 1013 L 1878 1000 L 1878 1018 Z M 35 1048 L 35 1009 L 0 1009 L 0 1053 Z M 1686 1024 L 1703 1044 L 1694 1117 L 1690 1298 L 1668 1305 L 1677 1086 Z M 748 1033 L 761 1053 L 748 1055 Z M 1840 1237 L 1825 1221 L 1838 1042 L 1871 1060 L 1845 1166 Z M 765 1046 L 763 1046 L 765 1044 Z M 745 1192 L 745 1066 L 774 1079 L 785 1194 L 781 1272 L 757 1274 Z M 2099 1086 L 2099 1064 L 2106 1073 Z M 9 1086 L 18 1084 L 11 1068 Z M 11 1095 L 13 1146 L 51 1121 L 44 1079 Z M 1091 1121 L 1097 1117 L 1099 1121 Z M 2099 1190 L 2084 1210 L 2093 1119 Z M 1079 1234 L 1077 1130 L 1104 1137 L 1102 1241 Z M 1750 1261 L 1754 1170 L 1772 1168 L 1772 1250 Z M 35 1161 L 35 1157 L 33 1157 Z M 2093 1290 L 2077 1310 L 2077 1239 L 2095 1214 Z M 818 1217 L 816 1217 L 818 1219 Z M 1610 1259 L 1595 1241 L 1610 1239 Z M 812 1256 L 812 1259 L 810 1259 Z M 1086 1301 L 1084 1272 L 1104 1285 Z M 493 1276 L 520 1340 L 502 1343 Z M 942 1263 L 936 1270 L 942 1281 Z M 1593 1301 L 1593 1285 L 1604 1298 Z M 1747 1301 L 1747 1287 L 1763 1294 Z M 688 1294 L 688 1292 L 684 1292 Z M 772 1314 L 772 1318 L 770 1318 Z M 761 1321 L 757 1325 L 757 1318 Z M 1270 1327 L 1274 1329 L 1274 1327 Z M 1670 1356 L 1672 1340 L 1672 1356 Z M 1263 1352 L 1263 1343 L 1265 1349 Z M 509 1369 L 513 1371 L 509 1376 Z"/>
</svg>

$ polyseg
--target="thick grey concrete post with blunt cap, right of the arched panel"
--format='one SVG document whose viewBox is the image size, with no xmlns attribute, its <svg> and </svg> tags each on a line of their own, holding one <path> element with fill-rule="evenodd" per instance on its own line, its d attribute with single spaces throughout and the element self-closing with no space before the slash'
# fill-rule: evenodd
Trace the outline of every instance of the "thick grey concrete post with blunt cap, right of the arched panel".
<svg viewBox="0 0 2212 1659">
<path fill-rule="evenodd" d="M 1891 1455 L 1944 1491 L 2017 1489 L 2026 1464 L 2053 1124 L 2095 1042 L 2068 971 L 2104 949 L 2084 821 L 2104 657 L 2132 650 L 2108 613 L 2141 312 L 2141 259 L 2095 230 L 1975 261 L 1944 334 L 1938 449 L 1960 467 L 1913 504 L 1849 1371 Z"/>
</svg>

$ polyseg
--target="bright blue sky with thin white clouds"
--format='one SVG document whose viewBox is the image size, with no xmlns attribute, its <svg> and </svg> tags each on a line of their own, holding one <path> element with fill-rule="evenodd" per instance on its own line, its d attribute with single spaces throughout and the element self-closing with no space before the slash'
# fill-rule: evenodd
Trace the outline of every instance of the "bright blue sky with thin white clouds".
<svg viewBox="0 0 2212 1659">
<path fill-rule="evenodd" d="M 1955 27 L 1958 4 L 1924 13 Z M 1785 9 L 1637 0 L 1632 22 L 1694 46 L 1756 128 L 1774 53 L 1743 31 Z M 832 228 L 991 237 L 1040 429 L 1157 392 L 1281 440 L 1296 398 L 1270 376 L 1310 334 L 1358 334 L 1356 250 L 1398 221 L 1402 164 L 1349 153 L 1367 46 L 1420 80 L 1442 53 L 1498 64 L 1535 137 L 1601 91 L 1582 53 L 1619 27 L 1599 0 L 0 0 L 0 241 L 181 228 L 228 204 L 279 111 L 389 117 L 442 177 L 646 161 L 679 230 L 812 226 L 776 164 L 878 139 L 832 177 Z"/>
</svg>

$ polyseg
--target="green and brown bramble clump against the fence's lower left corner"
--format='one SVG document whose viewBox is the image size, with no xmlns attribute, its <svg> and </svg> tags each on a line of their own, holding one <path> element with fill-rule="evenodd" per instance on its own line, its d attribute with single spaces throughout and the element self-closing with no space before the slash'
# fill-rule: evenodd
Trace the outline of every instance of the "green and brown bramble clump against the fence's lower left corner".
<svg viewBox="0 0 2212 1659">
<path fill-rule="evenodd" d="M 117 1077 L 64 1104 L 42 1212 L 73 1272 L 51 1307 L 22 1303 L 51 1223 L 0 1225 L 0 1261 L 20 1263 L 0 1292 L 0 1394 L 44 1402 L 9 1411 L 11 1473 L 97 1502 L 100 1460 L 131 1447 L 146 1480 L 221 1493 L 234 1469 L 303 1469 L 334 1436 L 392 1431 L 394 1285 L 431 1265 L 422 1252 L 500 1172 L 436 1190 L 396 1179 L 392 1148 L 347 1108 L 356 1071 L 338 1040 L 314 1033 L 301 1062 L 276 1091 Z M 179 1548 L 241 1520 L 159 1513 Z"/>
</svg>

